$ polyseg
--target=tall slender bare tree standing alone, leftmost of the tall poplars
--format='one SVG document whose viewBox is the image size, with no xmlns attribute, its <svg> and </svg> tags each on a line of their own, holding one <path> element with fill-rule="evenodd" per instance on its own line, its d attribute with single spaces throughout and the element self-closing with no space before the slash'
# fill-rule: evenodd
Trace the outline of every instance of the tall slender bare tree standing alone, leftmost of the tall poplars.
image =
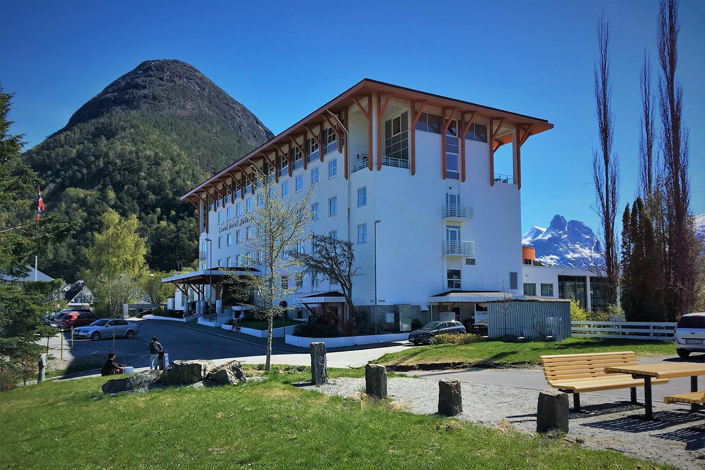
<svg viewBox="0 0 705 470">
<path fill-rule="evenodd" d="M 595 63 L 595 100 L 599 149 L 593 149 L 592 175 L 595 185 L 595 211 L 602 224 L 604 238 L 604 274 L 607 278 L 608 301 L 617 300 L 619 260 L 615 237 L 615 216 L 619 204 L 619 160 L 613 152 L 614 115 L 612 113 L 612 84 L 610 78 L 610 25 L 604 14 L 597 23 L 599 60 Z"/>
</svg>

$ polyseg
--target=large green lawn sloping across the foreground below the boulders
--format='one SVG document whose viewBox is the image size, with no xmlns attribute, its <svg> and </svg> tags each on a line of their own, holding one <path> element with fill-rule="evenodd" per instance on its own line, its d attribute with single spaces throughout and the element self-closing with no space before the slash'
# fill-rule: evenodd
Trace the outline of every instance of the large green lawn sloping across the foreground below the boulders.
<svg viewBox="0 0 705 470">
<path fill-rule="evenodd" d="M 289 385 L 309 378 L 273 372 L 238 387 L 116 397 L 100 392 L 104 378 L 20 387 L 0 394 L 0 468 L 670 469 Z"/>
</svg>

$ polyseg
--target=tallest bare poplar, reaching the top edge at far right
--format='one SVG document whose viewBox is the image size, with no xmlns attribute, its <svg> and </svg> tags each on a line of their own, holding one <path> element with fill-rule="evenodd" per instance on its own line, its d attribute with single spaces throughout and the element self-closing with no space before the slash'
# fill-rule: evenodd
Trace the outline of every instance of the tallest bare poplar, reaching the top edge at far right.
<svg viewBox="0 0 705 470">
<path fill-rule="evenodd" d="M 658 13 L 658 107 L 663 135 L 663 165 L 666 183 L 668 273 L 675 297 L 675 311 L 687 314 L 694 302 L 697 253 L 690 214 L 688 181 L 688 130 L 682 125 L 683 87 L 675 78 L 678 64 L 678 1 L 661 0 Z"/>
</svg>

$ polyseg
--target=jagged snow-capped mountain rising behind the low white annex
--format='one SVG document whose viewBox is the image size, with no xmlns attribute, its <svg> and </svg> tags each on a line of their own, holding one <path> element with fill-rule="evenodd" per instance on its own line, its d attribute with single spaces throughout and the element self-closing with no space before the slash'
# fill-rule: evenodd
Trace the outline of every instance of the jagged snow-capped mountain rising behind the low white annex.
<svg viewBox="0 0 705 470">
<path fill-rule="evenodd" d="M 559 214 L 548 228 L 530 228 L 522 235 L 522 245 L 536 249 L 537 261 L 546 266 L 587 268 L 603 262 L 602 246 L 592 229 L 581 221 L 566 222 Z"/>
</svg>

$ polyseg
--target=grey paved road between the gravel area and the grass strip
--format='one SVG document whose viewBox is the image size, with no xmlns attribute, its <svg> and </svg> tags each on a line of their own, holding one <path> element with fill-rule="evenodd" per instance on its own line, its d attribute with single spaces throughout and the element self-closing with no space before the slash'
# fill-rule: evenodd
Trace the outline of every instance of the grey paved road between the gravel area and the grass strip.
<svg viewBox="0 0 705 470">
<path fill-rule="evenodd" d="M 662 359 L 639 360 L 640 364 L 651 364 L 660 362 Z M 668 361 L 683 361 L 677 356 L 669 357 Z M 705 363 L 705 354 L 693 354 L 687 361 Z M 511 387 L 529 388 L 533 390 L 545 390 L 549 388 L 544 378 L 544 373 L 540 369 L 467 369 L 463 371 L 419 371 L 411 372 L 419 377 L 429 378 L 439 381 L 443 378 L 456 378 L 462 382 L 485 383 L 490 385 L 508 385 Z M 699 389 L 705 389 L 705 376 L 700 378 Z M 666 385 L 654 385 L 654 400 L 663 400 L 663 397 L 690 391 L 690 378 L 673 378 Z M 630 390 L 628 388 L 619 390 L 606 390 L 604 392 L 593 392 L 590 395 L 601 395 L 603 397 L 619 397 L 629 400 Z M 637 388 L 637 397 L 644 399 L 644 388 Z M 571 402 L 572 403 L 572 402 Z"/>
</svg>

